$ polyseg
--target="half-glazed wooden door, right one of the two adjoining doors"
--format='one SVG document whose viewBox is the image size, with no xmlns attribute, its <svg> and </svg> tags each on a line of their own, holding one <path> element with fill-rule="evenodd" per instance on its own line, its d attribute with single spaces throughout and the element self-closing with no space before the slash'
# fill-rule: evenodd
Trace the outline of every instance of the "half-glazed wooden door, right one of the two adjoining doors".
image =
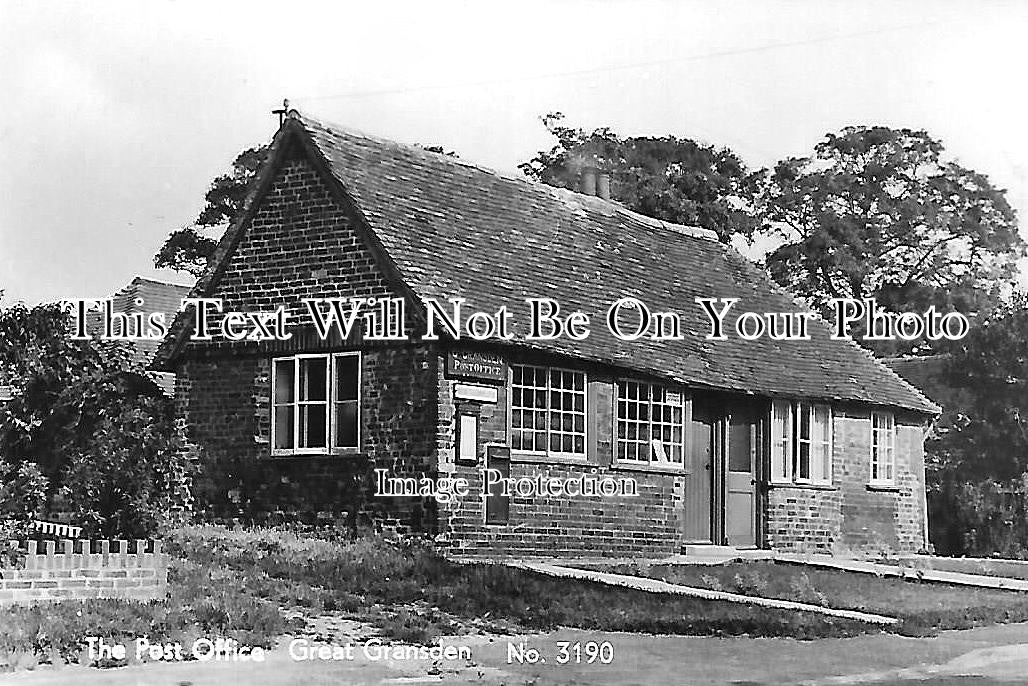
<svg viewBox="0 0 1028 686">
<path fill-rule="evenodd" d="M 725 538 L 728 545 L 757 545 L 757 413 L 733 408 L 725 446 Z"/>
</svg>

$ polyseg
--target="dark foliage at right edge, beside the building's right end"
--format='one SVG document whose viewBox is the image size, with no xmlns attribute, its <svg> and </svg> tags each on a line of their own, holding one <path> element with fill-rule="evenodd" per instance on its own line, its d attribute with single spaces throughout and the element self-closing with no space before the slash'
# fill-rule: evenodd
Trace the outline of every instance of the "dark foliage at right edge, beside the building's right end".
<svg viewBox="0 0 1028 686">
<path fill-rule="evenodd" d="M 1028 554 L 1028 296 L 952 346 L 951 398 L 925 445 L 929 526 L 945 554 Z"/>
</svg>

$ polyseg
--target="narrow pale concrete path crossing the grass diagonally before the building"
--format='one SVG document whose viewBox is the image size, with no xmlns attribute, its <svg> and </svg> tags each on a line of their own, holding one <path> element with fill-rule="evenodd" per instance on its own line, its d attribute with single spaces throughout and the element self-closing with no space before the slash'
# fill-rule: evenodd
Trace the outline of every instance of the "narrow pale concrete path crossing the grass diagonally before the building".
<svg viewBox="0 0 1028 686">
<path fill-rule="evenodd" d="M 844 619 L 855 619 L 857 621 L 872 624 L 898 624 L 895 617 L 885 617 L 883 615 L 871 614 L 868 612 L 857 612 L 855 610 L 837 610 L 825 608 L 819 605 L 808 603 L 796 603 L 794 601 L 782 601 L 773 598 L 757 598 L 754 595 L 742 595 L 740 593 L 729 593 L 724 590 L 710 590 L 709 588 L 698 588 L 696 586 L 683 586 L 668 583 L 659 579 L 648 579 L 646 577 L 630 576 L 627 574 L 612 574 L 610 572 L 597 572 L 593 570 L 581 570 L 571 567 L 559 567 L 547 563 L 529 563 L 510 561 L 505 562 L 509 567 L 524 569 L 540 574 L 554 577 L 584 579 L 596 581 L 611 586 L 622 586 L 624 588 L 635 588 L 652 593 L 671 593 L 673 595 L 689 595 L 691 598 L 701 598 L 708 601 L 727 601 L 729 603 L 742 603 L 745 605 L 757 605 L 765 608 L 777 608 L 780 610 L 799 610 L 802 612 L 813 612 L 828 615 L 830 617 L 841 617 Z"/>
</svg>

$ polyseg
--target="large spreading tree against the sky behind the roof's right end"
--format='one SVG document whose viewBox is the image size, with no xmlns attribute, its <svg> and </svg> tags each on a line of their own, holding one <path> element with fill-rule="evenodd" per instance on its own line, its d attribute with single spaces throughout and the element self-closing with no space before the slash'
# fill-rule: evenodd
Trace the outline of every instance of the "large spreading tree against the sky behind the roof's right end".
<svg viewBox="0 0 1028 686">
<path fill-rule="evenodd" d="M 987 312 L 1025 245 L 1004 191 L 943 153 L 923 131 L 850 127 L 778 163 L 761 204 L 782 241 L 772 278 L 824 314 L 835 297 Z"/>
</svg>

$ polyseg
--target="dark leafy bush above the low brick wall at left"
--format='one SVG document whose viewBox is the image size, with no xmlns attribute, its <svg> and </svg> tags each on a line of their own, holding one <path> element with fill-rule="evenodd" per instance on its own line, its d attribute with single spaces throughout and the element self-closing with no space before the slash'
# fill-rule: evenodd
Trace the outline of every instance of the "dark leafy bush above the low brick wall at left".
<svg viewBox="0 0 1028 686">
<path fill-rule="evenodd" d="M 0 369 L 15 388 L 0 405 L 0 457 L 26 478 L 38 468 L 44 509 L 87 535 L 153 535 L 187 505 L 189 455 L 171 402 L 126 350 L 68 332 L 57 305 L 0 310 Z"/>
</svg>

